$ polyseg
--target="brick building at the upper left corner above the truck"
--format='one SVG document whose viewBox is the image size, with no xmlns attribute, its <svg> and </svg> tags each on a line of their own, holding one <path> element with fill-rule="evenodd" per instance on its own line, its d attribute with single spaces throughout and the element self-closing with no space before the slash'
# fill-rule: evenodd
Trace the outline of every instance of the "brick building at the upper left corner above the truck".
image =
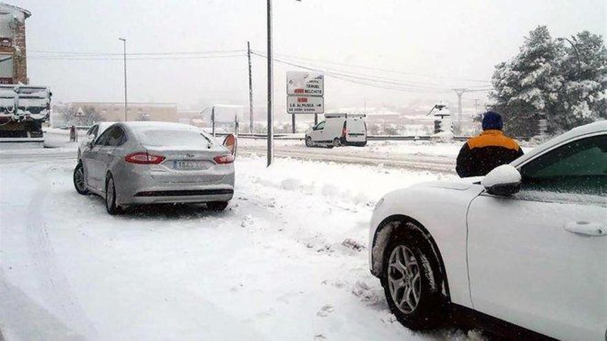
<svg viewBox="0 0 607 341">
<path fill-rule="evenodd" d="M 28 84 L 26 19 L 28 10 L 0 2 L 0 84 Z"/>
</svg>

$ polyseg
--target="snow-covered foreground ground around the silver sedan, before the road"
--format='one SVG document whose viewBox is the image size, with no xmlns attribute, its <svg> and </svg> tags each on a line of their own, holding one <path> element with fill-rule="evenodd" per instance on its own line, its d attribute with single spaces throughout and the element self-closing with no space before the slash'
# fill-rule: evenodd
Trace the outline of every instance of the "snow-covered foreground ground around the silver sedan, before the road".
<svg viewBox="0 0 607 341">
<path fill-rule="evenodd" d="M 379 197 L 452 174 L 288 158 L 267 169 L 252 154 L 237 160 L 226 211 L 109 216 L 73 188 L 74 144 L 52 143 L 61 148 L 0 150 L 6 340 L 480 338 L 405 329 L 368 270 Z"/>
</svg>

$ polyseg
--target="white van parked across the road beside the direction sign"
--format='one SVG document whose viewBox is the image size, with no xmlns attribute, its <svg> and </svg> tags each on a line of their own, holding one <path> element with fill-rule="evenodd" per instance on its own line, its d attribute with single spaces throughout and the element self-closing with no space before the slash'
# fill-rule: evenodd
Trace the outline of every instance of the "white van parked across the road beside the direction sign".
<svg viewBox="0 0 607 341">
<path fill-rule="evenodd" d="M 306 132 L 306 146 L 367 144 L 367 124 L 364 114 L 325 114 L 325 121 Z"/>
</svg>

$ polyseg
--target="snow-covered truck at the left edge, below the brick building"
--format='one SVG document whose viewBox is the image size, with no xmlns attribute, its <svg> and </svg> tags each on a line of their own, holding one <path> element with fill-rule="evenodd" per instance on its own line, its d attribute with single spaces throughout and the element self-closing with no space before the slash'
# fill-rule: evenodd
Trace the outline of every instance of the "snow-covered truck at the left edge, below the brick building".
<svg viewBox="0 0 607 341">
<path fill-rule="evenodd" d="M 0 85 L 0 143 L 42 143 L 42 123 L 50 117 L 51 96 L 45 86 Z"/>
</svg>

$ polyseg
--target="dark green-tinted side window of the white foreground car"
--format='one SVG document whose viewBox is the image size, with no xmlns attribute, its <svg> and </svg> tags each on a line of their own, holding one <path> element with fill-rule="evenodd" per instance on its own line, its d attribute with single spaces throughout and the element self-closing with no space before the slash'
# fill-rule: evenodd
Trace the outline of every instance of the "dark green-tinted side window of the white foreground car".
<svg viewBox="0 0 607 341">
<path fill-rule="evenodd" d="M 582 138 L 544 154 L 521 169 L 523 189 L 604 195 L 607 135 Z"/>
</svg>

